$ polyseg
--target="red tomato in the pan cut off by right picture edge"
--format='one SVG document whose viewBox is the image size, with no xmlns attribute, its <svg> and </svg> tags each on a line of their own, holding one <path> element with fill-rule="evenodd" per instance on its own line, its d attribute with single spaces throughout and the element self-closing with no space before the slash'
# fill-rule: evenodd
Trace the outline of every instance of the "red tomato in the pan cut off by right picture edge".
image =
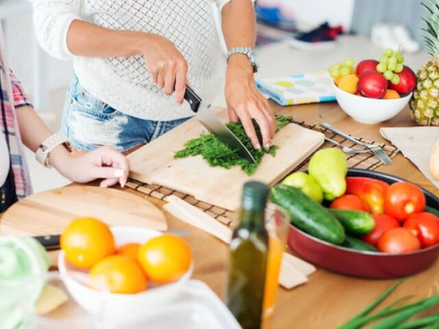
<svg viewBox="0 0 439 329">
<path fill-rule="evenodd" d="M 439 242 L 439 218 L 429 212 L 419 212 L 410 216 L 405 221 L 404 227 L 418 236 L 423 248 Z"/>
</svg>

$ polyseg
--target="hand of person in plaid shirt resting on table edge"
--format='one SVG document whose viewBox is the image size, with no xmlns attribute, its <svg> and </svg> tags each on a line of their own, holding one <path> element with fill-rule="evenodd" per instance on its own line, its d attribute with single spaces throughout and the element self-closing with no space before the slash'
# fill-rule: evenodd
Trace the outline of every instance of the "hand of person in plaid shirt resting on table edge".
<svg viewBox="0 0 439 329">
<path fill-rule="evenodd" d="M 55 149 L 54 152 L 56 151 L 58 150 Z M 54 152 L 51 154 L 54 155 L 54 167 L 73 182 L 86 183 L 104 178 L 99 186 L 108 187 L 119 182 L 123 187 L 128 180 L 128 160 L 112 147 L 104 146 L 90 152 L 67 154 L 67 157 L 64 154 L 58 156 Z"/>
</svg>

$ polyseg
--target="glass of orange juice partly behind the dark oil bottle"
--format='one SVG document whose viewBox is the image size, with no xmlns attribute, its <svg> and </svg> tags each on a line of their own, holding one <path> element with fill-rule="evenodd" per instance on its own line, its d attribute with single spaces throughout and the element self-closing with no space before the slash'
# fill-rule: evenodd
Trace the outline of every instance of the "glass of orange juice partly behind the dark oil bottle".
<svg viewBox="0 0 439 329">
<path fill-rule="evenodd" d="M 265 210 L 265 228 L 268 231 L 268 260 L 265 272 L 263 317 L 272 315 L 276 304 L 278 280 L 285 244 L 287 242 L 289 215 L 283 208 L 268 204 Z"/>
</svg>

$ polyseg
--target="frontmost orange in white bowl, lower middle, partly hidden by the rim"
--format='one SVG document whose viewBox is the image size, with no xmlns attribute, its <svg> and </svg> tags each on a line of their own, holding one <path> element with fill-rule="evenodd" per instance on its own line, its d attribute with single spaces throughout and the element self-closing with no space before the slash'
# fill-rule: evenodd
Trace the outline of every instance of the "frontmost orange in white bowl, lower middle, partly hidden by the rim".
<svg viewBox="0 0 439 329">
<path fill-rule="evenodd" d="M 95 264 L 90 276 L 110 293 L 139 293 L 147 288 L 147 279 L 137 262 L 123 255 L 108 256 Z"/>
</svg>

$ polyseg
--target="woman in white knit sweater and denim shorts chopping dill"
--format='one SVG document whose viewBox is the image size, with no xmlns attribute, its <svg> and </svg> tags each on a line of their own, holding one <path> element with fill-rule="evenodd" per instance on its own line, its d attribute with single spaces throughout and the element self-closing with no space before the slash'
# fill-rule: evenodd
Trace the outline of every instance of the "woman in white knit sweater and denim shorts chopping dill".
<svg viewBox="0 0 439 329">
<path fill-rule="evenodd" d="M 276 122 L 254 84 L 251 0 L 34 0 L 40 45 L 73 59 L 62 132 L 76 149 L 114 145 L 128 151 L 193 115 L 186 84 L 209 103 L 221 84 L 222 59 L 212 3 L 228 46 L 225 95 L 230 121 L 241 121 L 252 146 L 271 145 Z M 175 89 L 175 93 L 174 93 Z M 171 94 L 174 93 L 174 97 Z"/>
</svg>

